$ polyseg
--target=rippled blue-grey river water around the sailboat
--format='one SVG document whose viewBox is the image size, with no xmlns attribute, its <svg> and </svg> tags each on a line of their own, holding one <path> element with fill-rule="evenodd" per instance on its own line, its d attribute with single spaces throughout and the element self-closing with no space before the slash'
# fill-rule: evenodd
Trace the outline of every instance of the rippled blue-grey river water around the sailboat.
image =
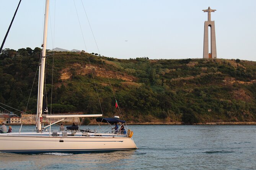
<svg viewBox="0 0 256 170">
<path fill-rule="evenodd" d="M 18 128 L 13 126 L 14 131 Z M 22 131 L 33 128 L 23 126 Z M 129 128 L 134 131 L 133 139 L 139 149 L 90 154 L 0 153 L 0 169 L 256 169 L 255 125 L 129 125 Z"/>
</svg>

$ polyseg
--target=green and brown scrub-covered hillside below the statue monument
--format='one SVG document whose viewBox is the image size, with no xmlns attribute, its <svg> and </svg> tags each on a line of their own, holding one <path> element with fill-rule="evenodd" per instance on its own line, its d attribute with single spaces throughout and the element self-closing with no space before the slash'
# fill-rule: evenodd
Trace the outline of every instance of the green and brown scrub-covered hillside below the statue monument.
<svg viewBox="0 0 256 170">
<path fill-rule="evenodd" d="M 2 51 L 1 103 L 36 113 L 38 79 L 34 81 L 34 77 L 40 52 L 40 48 Z M 256 62 L 253 61 L 102 57 L 107 76 L 100 56 L 83 52 L 47 55 L 46 96 L 53 113 L 101 113 L 100 100 L 105 117 L 119 115 L 115 95 L 129 123 L 256 122 Z M 3 111 L 1 107 L 0 110 Z"/>
</svg>

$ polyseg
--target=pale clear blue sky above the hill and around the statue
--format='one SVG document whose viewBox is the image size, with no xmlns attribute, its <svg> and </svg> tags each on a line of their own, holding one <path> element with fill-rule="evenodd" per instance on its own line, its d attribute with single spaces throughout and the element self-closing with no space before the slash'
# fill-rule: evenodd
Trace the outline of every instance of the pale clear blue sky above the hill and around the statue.
<svg viewBox="0 0 256 170">
<path fill-rule="evenodd" d="M 18 2 L 0 1 L 1 43 Z M 21 1 L 3 48 L 41 46 L 44 3 Z M 256 61 L 255 0 L 50 0 L 47 49 L 78 49 L 120 59 L 202 58 L 207 20 L 202 10 L 208 6 L 217 10 L 211 13 L 217 58 Z"/>
</svg>

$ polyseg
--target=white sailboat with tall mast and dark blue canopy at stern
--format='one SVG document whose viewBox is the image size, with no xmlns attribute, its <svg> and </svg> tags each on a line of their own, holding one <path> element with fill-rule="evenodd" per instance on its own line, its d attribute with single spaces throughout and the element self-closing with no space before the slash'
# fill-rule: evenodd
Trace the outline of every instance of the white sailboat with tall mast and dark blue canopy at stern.
<svg viewBox="0 0 256 170">
<path fill-rule="evenodd" d="M 18 154 L 41 154 L 51 152 L 61 153 L 85 153 L 85 152 L 104 152 L 116 150 L 136 149 L 133 132 L 120 132 L 120 129 L 104 130 L 77 130 L 68 128 L 67 130 L 51 130 L 51 126 L 69 117 L 98 117 L 97 122 L 108 123 L 110 127 L 113 124 L 125 123 L 119 117 L 101 118 L 102 114 L 86 115 L 46 115 L 46 118 L 62 118 L 57 122 L 50 123 L 43 127 L 43 90 L 44 90 L 44 72 L 46 64 L 46 42 L 49 14 L 49 0 L 46 0 L 44 16 L 44 37 L 42 43 L 41 64 L 39 67 L 39 85 L 38 85 L 38 105 L 37 105 L 37 123 L 34 132 L 0 133 L 0 152 L 11 152 Z M 21 125 L 22 127 L 22 125 Z M 49 130 L 47 130 L 49 129 Z"/>
</svg>

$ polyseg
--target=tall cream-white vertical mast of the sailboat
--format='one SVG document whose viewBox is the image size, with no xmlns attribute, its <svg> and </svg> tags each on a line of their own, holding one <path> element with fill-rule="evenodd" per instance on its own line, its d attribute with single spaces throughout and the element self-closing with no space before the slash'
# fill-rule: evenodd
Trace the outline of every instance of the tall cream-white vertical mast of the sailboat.
<svg viewBox="0 0 256 170">
<path fill-rule="evenodd" d="M 44 71 L 45 71 L 45 61 L 46 61 L 46 44 L 47 44 L 47 30 L 48 30 L 48 15 L 49 15 L 49 0 L 46 0 L 45 4 L 45 14 L 44 14 L 44 38 L 42 43 L 42 55 L 41 55 L 41 68 L 39 71 L 39 88 L 38 88 L 38 118 L 37 118 L 37 130 L 38 132 L 42 129 L 42 104 L 44 96 Z"/>
</svg>

